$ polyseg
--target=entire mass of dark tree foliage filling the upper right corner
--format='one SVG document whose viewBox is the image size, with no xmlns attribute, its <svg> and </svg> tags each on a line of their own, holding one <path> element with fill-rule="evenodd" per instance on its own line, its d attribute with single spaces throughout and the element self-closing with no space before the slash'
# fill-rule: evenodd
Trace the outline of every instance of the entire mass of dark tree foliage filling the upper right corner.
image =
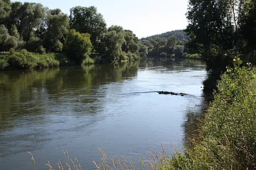
<svg viewBox="0 0 256 170">
<path fill-rule="evenodd" d="M 255 56 L 255 1 L 189 1 L 186 33 L 190 52 L 206 61 L 208 70 L 224 71 L 234 56 Z M 252 58 L 247 58 L 252 60 Z"/>
</svg>

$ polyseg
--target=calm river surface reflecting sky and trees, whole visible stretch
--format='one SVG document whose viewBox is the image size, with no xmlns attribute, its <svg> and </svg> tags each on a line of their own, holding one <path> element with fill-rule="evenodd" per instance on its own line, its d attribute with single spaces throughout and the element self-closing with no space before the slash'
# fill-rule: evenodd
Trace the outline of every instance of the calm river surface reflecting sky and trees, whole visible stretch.
<svg viewBox="0 0 256 170">
<path fill-rule="evenodd" d="M 95 169 L 98 147 L 137 162 L 160 142 L 181 149 L 204 79 L 203 62 L 170 59 L 0 72 L 0 169 L 33 169 L 27 152 L 58 169 L 63 147 L 82 169 Z"/>
</svg>

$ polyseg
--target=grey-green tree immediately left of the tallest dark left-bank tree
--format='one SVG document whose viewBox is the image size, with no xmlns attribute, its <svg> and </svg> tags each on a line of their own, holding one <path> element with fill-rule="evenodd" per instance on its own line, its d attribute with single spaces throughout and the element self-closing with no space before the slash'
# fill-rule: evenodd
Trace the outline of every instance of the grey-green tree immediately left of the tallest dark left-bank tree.
<svg viewBox="0 0 256 170">
<path fill-rule="evenodd" d="M 68 33 L 68 16 L 60 9 L 48 11 L 46 16 L 46 33 L 43 40 L 43 46 L 47 51 L 60 52 L 63 50 L 65 36 Z"/>
</svg>

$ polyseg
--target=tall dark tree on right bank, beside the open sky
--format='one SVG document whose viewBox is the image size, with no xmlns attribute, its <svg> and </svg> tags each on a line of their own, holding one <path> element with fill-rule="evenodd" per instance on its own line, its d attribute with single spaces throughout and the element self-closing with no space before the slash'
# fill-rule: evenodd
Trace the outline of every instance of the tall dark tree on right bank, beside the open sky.
<svg viewBox="0 0 256 170">
<path fill-rule="evenodd" d="M 187 12 L 186 33 L 191 35 L 188 46 L 206 60 L 207 69 L 230 63 L 228 53 L 234 47 L 234 26 L 231 1 L 191 0 Z"/>
</svg>

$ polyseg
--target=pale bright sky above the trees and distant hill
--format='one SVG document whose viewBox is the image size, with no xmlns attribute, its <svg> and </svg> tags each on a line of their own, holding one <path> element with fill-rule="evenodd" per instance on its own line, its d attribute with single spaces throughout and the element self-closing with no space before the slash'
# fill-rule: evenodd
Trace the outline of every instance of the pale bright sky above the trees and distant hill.
<svg viewBox="0 0 256 170">
<path fill-rule="evenodd" d="M 110 26 L 132 30 L 138 38 L 185 29 L 188 0 L 18 0 L 36 2 L 70 14 L 75 6 L 95 6 Z"/>
</svg>

